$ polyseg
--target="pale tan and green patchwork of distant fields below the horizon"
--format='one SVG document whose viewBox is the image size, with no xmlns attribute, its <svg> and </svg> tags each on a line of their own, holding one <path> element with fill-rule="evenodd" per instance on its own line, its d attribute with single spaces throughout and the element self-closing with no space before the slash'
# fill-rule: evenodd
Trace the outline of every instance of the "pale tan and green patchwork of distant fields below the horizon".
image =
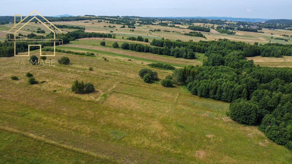
<svg viewBox="0 0 292 164">
<path fill-rule="evenodd" d="M 90 17 L 88 17 L 90 18 Z M 87 22 L 88 21 L 88 22 Z M 103 20 L 102 20 L 103 21 Z M 128 36 L 142 36 L 143 38 L 148 38 L 150 39 L 160 39 L 164 37 L 165 39 L 171 39 L 171 40 L 177 40 L 180 39 L 182 41 L 189 41 L 190 39 L 193 41 L 200 41 L 200 40 L 218 40 L 218 39 L 224 39 L 227 38 L 232 41 L 243 41 L 247 43 L 268 43 L 271 41 L 272 43 L 283 43 L 283 44 L 292 44 L 292 38 L 291 37 L 284 37 L 280 35 L 292 35 L 291 30 L 284 30 L 284 29 L 277 29 L 277 30 L 269 30 L 269 29 L 263 29 L 259 30 L 264 33 L 255 33 L 255 32 L 244 32 L 244 31 L 236 31 L 235 35 L 228 35 L 228 34 L 220 34 L 219 32 L 211 29 L 211 32 L 201 32 L 206 36 L 207 39 L 204 39 L 202 37 L 194 37 L 194 36 L 186 36 L 183 35 L 184 33 L 189 33 L 192 30 L 186 29 L 188 25 L 175 25 L 175 26 L 180 26 L 183 27 L 184 29 L 180 28 L 174 28 L 174 27 L 162 27 L 159 25 L 141 25 L 138 26 L 139 24 L 135 24 L 136 28 L 134 29 L 134 32 L 131 32 L 131 28 L 120 28 L 122 25 L 117 25 L 117 24 L 111 24 L 111 23 L 106 23 L 105 22 L 98 22 L 98 20 L 80 20 L 80 21 L 71 21 L 71 22 L 53 22 L 55 25 L 72 25 L 72 26 L 82 26 L 86 28 L 86 32 L 103 32 L 103 33 L 110 33 L 110 31 L 113 31 L 112 34 L 116 34 L 117 38 L 121 38 L 122 36 L 128 37 Z M 158 23 L 158 22 L 157 22 Z M 13 27 L 14 24 L 6 24 L 6 25 L 0 25 L 0 40 L 4 40 L 6 36 L 6 32 Z M 19 25 L 21 27 L 23 23 Z M 203 26 L 203 23 L 194 23 L 194 25 L 201 25 Z M 104 27 L 106 26 L 106 27 Z M 108 26 L 116 26 L 115 28 L 110 28 Z M 212 26 L 212 24 L 205 24 L 205 26 Z M 21 29 L 19 33 L 27 35 L 33 31 L 36 31 L 38 27 L 41 27 L 41 29 L 46 31 L 46 34 L 48 34 L 50 31 L 42 24 L 39 23 L 34 23 L 30 22 L 28 25 L 25 26 L 25 28 Z M 217 25 L 215 25 L 217 27 Z M 155 32 L 150 32 L 149 30 L 152 29 L 161 29 L 160 32 L 155 31 Z M 68 32 L 68 31 L 73 31 L 75 29 L 63 29 L 62 32 Z M 163 30 L 168 30 L 170 32 L 163 32 Z M 56 31 L 58 33 L 58 31 Z M 3 34 L 2 34 L 3 33 Z M 273 35 L 271 34 L 273 33 Z M 43 34 L 43 35 L 46 35 Z M 39 35 L 41 35 L 39 33 Z M 276 40 L 276 39 L 271 39 L 271 36 L 274 38 L 276 37 L 281 37 L 285 39 L 290 39 L 288 42 L 285 42 L 283 40 Z"/>
</svg>

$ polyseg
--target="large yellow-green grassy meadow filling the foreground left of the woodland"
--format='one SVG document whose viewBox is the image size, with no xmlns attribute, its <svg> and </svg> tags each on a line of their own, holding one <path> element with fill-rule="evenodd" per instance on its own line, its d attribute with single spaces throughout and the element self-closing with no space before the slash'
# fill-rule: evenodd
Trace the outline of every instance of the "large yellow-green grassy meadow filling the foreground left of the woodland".
<svg viewBox="0 0 292 164">
<path fill-rule="evenodd" d="M 122 39 L 105 39 L 105 47 L 100 41 L 57 47 L 96 57 L 48 57 L 67 56 L 69 65 L 30 66 L 28 57 L 0 58 L 0 163 L 291 163 L 291 152 L 258 127 L 226 117 L 229 103 L 194 96 L 183 86 L 147 84 L 138 76 L 147 63 L 181 67 L 199 63 L 203 54 L 186 60 L 109 46 Z M 22 59 L 25 66 L 15 64 Z M 27 69 L 46 82 L 29 85 Z M 44 69 L 50 71 L 33 72 Z M 151 69 L 159 79 L 172 74 Z M 95 92 L 72 93 L 75 79 L 93 83 Z"/>
</svg>

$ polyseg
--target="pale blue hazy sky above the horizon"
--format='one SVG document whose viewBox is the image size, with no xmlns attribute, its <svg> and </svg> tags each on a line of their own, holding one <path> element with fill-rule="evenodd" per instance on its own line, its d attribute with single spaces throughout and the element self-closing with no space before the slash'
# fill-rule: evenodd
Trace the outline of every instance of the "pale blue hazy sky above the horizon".
<svg viewBox="0 0 292 164">
<path fill-rule="evenodd" d="M 291 0 L 0 0 L 0 15 L 217 16 L 292 19 Z"/>
</svg>

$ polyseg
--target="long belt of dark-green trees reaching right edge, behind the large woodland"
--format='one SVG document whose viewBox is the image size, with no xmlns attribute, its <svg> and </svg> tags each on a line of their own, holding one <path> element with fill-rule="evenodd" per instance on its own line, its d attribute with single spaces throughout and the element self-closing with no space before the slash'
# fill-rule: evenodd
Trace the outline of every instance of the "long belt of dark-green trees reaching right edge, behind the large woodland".
<svg viewBox="0 0 292 164">
<path fill-rule="evenodd" d="M 209 56 L 212 53 L 222 56 L 228 55 L 230 52 L 237 50 L 243 53 L 244 57 L 263 56 L 263 57 L 281 57 L 292 56 L 292 45 L 280 43 L 266 43 L 264 45 L 255 43 L 253 45 L 244 42 L 229 41 L 228 39 L 219 39 L 219 41 L 199 41 L 199 42 L 183 42 L 180 40 L 170 41 L 168 39 L 153 39 L 150 43 L 153 46 L 167 48 L 186 48 L 193 52 L 206 53 Z"/>
</svg>

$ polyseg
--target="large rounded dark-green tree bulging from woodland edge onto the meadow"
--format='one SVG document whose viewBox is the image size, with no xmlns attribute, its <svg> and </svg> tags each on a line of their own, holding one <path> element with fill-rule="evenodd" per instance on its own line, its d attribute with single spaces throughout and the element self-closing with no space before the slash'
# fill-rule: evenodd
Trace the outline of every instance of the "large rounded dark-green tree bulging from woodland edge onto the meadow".
<svg viewBox="0 0 292 164">
<path fill-rule="evenodd" d="M 239 123 L 253 125 L 258 118 L 258 105 L 253 101 L 237 99 L 231 102 L 229 106 L 229 116 L 232 120 Z"/>
</svg>

